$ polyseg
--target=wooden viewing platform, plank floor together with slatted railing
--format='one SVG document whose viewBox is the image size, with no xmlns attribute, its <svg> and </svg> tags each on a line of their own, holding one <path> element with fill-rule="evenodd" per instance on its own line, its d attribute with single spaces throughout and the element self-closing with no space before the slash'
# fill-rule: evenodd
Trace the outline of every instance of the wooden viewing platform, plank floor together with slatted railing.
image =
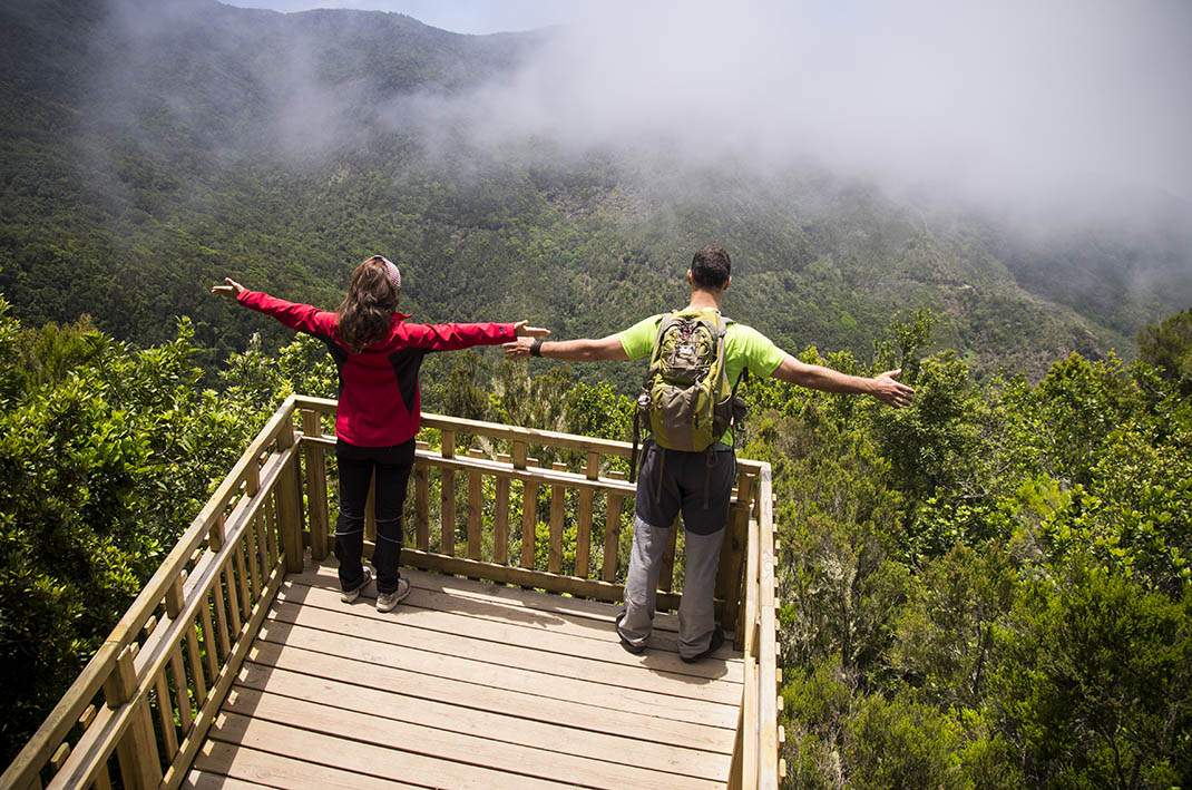
<svg viewBox="0 0 1192 790">
<path fill-rule="evenodd" d="M 735 639 L 685 664 L 673 615 L 641 655 L 613 627 L 625 442 L 426 415 L 410 596 L 342 603 L 334 410 L 283 404 L 0 788 L 777 786 L 769 466 L 738 465 L 716 585 Z M 660 608 L 681 567 L 679 539 Z"/>
</svg>

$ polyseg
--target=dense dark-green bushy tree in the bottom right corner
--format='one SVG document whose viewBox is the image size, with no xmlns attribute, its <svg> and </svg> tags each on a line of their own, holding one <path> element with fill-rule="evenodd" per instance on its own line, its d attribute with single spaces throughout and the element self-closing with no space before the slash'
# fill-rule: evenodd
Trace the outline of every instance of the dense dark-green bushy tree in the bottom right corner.
<svg viewBox="0 0 1192 790">
<path fill-rule="evenodd" d="M 992 693 L 1030 780 L 1126 790 L 1192 776 L 1192 597 L 1074 555 L 1023 589 L 997 651 Z"/>
</svg>

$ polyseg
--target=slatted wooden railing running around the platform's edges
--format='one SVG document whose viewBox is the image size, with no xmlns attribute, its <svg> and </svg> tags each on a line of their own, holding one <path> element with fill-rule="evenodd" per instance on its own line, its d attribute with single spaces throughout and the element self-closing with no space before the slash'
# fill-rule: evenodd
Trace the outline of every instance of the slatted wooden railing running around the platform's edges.
<svg viewBox="0 0 1192 790">
<path fill-rule="evenodd" d="M 0 789 L 181 783 L 284 576 L 302 571 L 308 548 L 328 554 L 335 408 L 291 397 L 272 416 Z M 403 564 L 621 599 L 635 491 L 627 442 L 436 415 L 422 427 Z M 771 506 L 769 465 L 738 461 L 715 587 L 718 617 L 745 651 L 731 786 L 778 780 Z M 374 530 L 370 517 L 367 540 Z M 678 605 L 681 533 L 659 583 L 663 609 Z"/>
</svg>

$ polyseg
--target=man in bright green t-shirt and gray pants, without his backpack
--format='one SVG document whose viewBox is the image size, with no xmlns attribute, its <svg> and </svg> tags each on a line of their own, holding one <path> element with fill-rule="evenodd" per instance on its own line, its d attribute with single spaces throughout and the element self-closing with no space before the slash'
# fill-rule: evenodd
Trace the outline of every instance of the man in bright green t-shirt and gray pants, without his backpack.
<svg viewBox="0 0 1192 790">
<path fill-rule="evenodd" d="M 704 247 L 691 260 L 687 280 L 691 286 L 690 309 L 719 311 L 720 300 L 732 282 L 728 253 L 720 247 Z M 520 337 L 505 343 L 504 349 L 511 357 L 546 356 L 571 362 L 637 360 L 651 355 L 664 317 L 665 313 L 651 316 L 602 340 L 542 342 L 540 337 Z M 725 334 L 727 380 L 737 381 L 745 368 L 753 375 L 774 377 L 825 392 L 871 394 L 895 408 L 908 405 L 914 397 L 914 390 L 894 380 L 900 371 L 888 371 L 870 379 L 807 365 L 757 330 L 730 323 Z M 616 630 L 627 651 L 641 653 L 646 647 L 670 525 L 681 511 L 687 530 L 687 560 L 678 610 L 679 657 L 684 661 L 699 661 L 724 643 L 712 596 L 735 478 L 737 459 L 728 434 L 699 453 L 665 449 L 653 437 L 646 440 L 634 505 L 633 550 L 625 580 L 625 611 L 616 618 Z"/>
</svg>

